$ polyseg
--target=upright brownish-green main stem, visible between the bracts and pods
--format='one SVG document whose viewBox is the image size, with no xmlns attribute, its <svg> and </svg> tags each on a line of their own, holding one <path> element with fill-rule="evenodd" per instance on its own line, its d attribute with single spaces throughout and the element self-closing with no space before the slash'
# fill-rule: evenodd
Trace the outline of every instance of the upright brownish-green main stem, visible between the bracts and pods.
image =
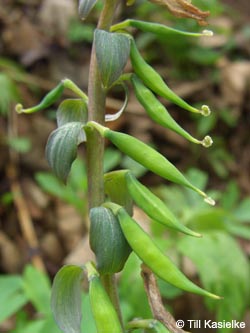
<svg viewBox="0 0 250 333">
<path fill-rule="evenodd" d="M 98 22 L 98 29 L 109 31 L 115 13 L 117 0 L 106 0 Z M 89 69 L 89 121 L 101 125 L 105 122 L 106 93 L 102 87 L 94 46 L 92 47 Z M 94 128 L 87 131 L 87 168 L 88 168 L 88 196 L 89 208 L 100 206 L 105 199 L 103 182 L 103 154 L 104 138 Z M 113 275 L 102 277 L 102 283 L 121 320 L 121 311 L 117 296 L 115 278 Z M 122 320 L 121 320 L 122 324 Z"/>
</svg>

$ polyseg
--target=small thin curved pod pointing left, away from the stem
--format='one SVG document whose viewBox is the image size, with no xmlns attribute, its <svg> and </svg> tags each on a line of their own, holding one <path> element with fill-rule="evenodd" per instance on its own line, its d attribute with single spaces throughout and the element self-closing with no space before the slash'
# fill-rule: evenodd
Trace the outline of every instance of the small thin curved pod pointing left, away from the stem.
<svg viewBox="0 0 250 333">
<path fill-rule="evenodd" d="M 47 107 L 49 107 L 50 105 L 52 105 L 53 103 L 55 103 L 58 100 L 58 98 L 61 97 L 63 90 L 64 90 L 63 83 L 60 82 L 53 90 L 51 90 L 42 99 L 42 101 L 38 105 L 36 105 L 32 108 L 29 108 L 29 109 L 23 109 L 23 106 L 21 104 L 17 104 L 16 111 L 18 113 L 33 113 L 33 112 L 44 110 Z"/>
</svg>

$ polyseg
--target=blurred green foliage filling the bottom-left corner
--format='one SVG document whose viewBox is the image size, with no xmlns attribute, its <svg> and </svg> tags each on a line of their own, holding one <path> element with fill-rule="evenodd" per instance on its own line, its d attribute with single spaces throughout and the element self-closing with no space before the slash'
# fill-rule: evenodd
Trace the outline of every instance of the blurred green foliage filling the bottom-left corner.
<svg viewBox="0 0 250 333">
<path fill-rule="evenodd" d="M 50 311 L 50 281 L 33 266 L 26 266 L 23 275 L 0 276 L 0 322 L 16 316 L 11 333 L 59 333 Z M 29 318 L 24 306 L 32 304 L 38 318 Z"/>
</svg>

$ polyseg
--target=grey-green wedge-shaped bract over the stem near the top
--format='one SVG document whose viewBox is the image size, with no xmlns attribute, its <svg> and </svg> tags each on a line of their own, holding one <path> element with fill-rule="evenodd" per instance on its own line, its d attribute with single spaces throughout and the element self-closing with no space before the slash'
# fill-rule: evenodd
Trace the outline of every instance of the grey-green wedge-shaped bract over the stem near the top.
<svg viewBox="0 0 250 333">
<path fill-rule="evenodd" d="M 104 88 L 108 89 L 122 74 L 127 63 L 130 42 L 123 34 L 95 30 L 94 46 Z"/>
</svg>

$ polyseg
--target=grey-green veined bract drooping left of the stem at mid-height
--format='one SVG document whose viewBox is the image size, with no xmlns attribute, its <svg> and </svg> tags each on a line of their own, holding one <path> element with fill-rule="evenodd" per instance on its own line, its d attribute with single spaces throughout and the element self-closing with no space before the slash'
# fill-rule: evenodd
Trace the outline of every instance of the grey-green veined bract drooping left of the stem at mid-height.
<svg viewBox="0 0 250 333">
<path fill-rule="evenodd" d="M 56 176 L 65 181 L 77 156 L 77 146 L 82 142 L 82 124 L 72 122 L 53 131 L 46 146 L 46 158 Z"/>
</svg>

